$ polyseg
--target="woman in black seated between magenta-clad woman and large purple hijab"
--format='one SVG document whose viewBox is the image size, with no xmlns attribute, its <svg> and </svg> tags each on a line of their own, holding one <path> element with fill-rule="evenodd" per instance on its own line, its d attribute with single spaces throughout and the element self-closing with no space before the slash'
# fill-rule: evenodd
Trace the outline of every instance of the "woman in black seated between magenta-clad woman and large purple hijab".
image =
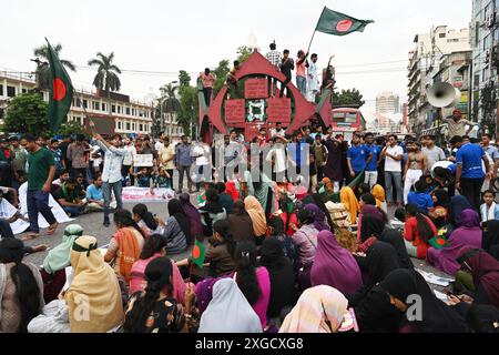
<svg viewBox="0 0 499 355">
<path fill-rule="evenodd" d="M 284 256 L 283 242 L 276 236 L 267 237 L 263 242 L 259 253 L 259 264 L 265 266 L 271 278 L 267 317 L 278 317 L 285 306 L 293 306 L 296 303 L 293 264 Z"/>
</svg>

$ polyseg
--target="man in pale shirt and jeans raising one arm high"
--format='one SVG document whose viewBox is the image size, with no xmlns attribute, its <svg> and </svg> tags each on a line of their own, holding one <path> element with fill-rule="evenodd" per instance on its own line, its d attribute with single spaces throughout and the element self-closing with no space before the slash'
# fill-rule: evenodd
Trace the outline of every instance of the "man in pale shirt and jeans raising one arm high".
<svg viewBox="0 0 499 355">
<path fill-rule="evenodd" d="M 105 141 L 98 132 L 93 121 L 90 121 L 93 139 L 104 152 L 104 168 L 102 169 L 102 187 L 104 190 L 104 226 L 110 226 L 109 214 L 111 204 L 111 191 L 114 192 L 118 210 L 123 209 L 123 200 L 121 192 L 123 185 L 121 183 L 121 166 L 125 150 L 121 148 L 121 135 L 114 134 L 112 143 Z"/>
</svg>

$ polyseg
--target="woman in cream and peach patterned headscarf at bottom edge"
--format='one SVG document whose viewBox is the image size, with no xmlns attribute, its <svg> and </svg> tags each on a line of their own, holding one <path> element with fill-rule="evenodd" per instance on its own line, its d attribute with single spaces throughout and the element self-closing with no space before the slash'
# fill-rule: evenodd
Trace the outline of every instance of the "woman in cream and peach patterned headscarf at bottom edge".
<svg viewBox="0 0 499 355">
<path fill-rule="evenodd" d="M 342 326 L 348 301 L 330 286 L 305 290 L 284 320 L 279 333 L 336 333 Z"/>
</svg>

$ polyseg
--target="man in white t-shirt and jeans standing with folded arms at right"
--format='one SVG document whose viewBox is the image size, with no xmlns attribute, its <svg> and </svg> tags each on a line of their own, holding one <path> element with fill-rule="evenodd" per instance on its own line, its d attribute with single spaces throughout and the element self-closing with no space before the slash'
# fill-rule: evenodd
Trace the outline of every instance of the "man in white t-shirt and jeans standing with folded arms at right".
<svg viewBox="0 0 499 355">
<path fill-rule="evenodd" d="M 388 206 L 394 203 L 393 182 L 395 181 L 395 192 L 397 200 L 395 203 L 397 206 L 401 206 L 403 189 L 401 189 L 401 160 L 404 150 L 398 145 L 397 135 L 391 134 L 388 136 L 388 142 L 383 149 L 380 159 L 385 158 L 385 186 L 386 186 L 386 201 Z"/>
</svg>

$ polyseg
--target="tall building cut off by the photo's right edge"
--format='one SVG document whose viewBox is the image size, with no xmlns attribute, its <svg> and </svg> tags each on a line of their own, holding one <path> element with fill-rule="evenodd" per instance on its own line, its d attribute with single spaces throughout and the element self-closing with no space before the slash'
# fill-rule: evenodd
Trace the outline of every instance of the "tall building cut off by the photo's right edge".
<svg viewBox="0 0 499 355">
<path fill-rule="evenodd" d="M 470 106 L 482 130 L 497 131 L 497 79 L 499 64 L 499 0 L 473 0 L 471 14 Z M 491 132 L 495 133 L 495 132 Z"/>
</svg>

